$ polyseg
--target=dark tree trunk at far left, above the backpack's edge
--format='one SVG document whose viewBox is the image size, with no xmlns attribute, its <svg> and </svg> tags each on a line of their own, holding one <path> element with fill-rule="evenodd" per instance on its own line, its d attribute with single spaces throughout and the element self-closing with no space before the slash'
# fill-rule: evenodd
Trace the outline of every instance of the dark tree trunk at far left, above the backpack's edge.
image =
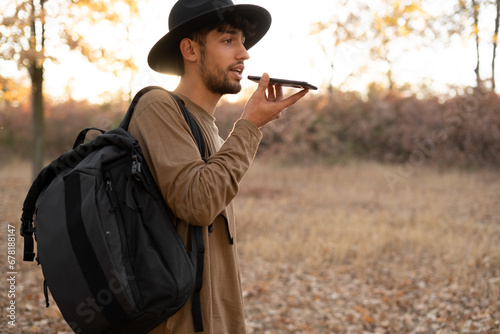
<svg viewBox="0 0 500 334">
<path fill-rule="evenodd" d="M 33 108 L 33 178 L 42 170 L 45 146 L 45 118 L 43 103 L 43 66 L 32 64 L 31 106 Z"/>
</svg>

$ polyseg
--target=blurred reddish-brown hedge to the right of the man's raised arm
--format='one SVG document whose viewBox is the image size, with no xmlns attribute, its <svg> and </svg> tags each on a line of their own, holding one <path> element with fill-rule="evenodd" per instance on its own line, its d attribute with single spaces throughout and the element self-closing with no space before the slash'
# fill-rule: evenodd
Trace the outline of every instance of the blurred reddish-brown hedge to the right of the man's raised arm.
<svg viewBox="0 0 500 334">
<path fill-rule="evenodd" d="M 500 98 L 495 94 L 442 101 L 398 93 L 363 99 L 337 92 L 291 108 L 263 131 L 261 154 L 292 162 L 361 158 L 412 165 L 500 166 Z"/>
</svg>

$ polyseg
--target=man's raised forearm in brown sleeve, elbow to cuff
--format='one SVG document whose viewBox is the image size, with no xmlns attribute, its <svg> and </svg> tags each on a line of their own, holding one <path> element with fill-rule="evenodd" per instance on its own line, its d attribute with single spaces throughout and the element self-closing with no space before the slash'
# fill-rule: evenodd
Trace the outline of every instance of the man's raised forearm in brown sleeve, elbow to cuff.
<svg viewBox="0 0 500 334">
<path fill-rule="evenodd" d="M 238 121 L 221 149 L 205 165 L 186 165 L 174 183 L 164 179 L 164 197 L 180 219 L 195 225 L 210 225 L 234 199 L 248 171 L 261 134 L 252 124 Z M 170 183 L 170 184 L 169 184 Z"/>
</svg>

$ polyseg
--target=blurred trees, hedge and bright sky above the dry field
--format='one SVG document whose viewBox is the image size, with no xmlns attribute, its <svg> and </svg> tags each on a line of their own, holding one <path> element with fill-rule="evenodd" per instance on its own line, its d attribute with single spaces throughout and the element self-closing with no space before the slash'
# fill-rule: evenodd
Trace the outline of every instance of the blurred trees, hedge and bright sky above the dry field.
<svg viewBox="0 0 500 334">
<path fill-rule="evenodd" d="M 245 74 L 320 87 L 289 124 L 268 130 L 261 153 L 272 146 L 298 150 L 293 156 L 399 163 L 432 141 L 444 163 L 498 166 L 498 1 L 247 3 L 265 6 L 273 25 L 250 50 Z M 174 1 L 0 4 L 2 161 L 34 159 L 38 171 L 81 127 L 116 125 L 142 87 L 178 82 L 146 63 Z M 246 79 L 243 86 L 221 103 L 221 124 L 232 124 L 255 89 Z M 289 145 L 290 135 L 298 145 Z"/>
</svg>

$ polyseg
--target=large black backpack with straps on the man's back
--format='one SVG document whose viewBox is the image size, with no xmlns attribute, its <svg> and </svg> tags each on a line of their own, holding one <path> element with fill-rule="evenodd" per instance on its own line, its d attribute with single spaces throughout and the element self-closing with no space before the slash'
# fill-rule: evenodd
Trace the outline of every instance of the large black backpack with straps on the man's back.
<svg viewBox="0 0 500 334">
<path fill-rule="evenodd" d="M 101 131 L 45 167 L 23 205 L 24 261 L 35 258 L 64 319 L 75 333 L 147 333 L 193 293 L 195 330 L 203 331 L 199 292 L 205 247 L 191 226 L 189 252 L 172 213 L 127 131 L 141 90 L 116 129 Z M 177 101 L 205 159 L 203 135 Z M 97 129 L 98 130 L 98 129 Z M 34 224 L 33 224 L 34 222 Z"/>
</svg>

